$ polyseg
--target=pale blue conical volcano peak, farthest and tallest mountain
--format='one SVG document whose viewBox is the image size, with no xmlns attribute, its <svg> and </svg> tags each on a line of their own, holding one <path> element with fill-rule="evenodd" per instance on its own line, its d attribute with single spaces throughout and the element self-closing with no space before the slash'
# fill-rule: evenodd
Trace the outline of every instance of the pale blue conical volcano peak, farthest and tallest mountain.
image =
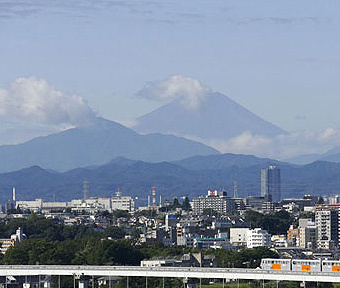
<svg viewBox="0 0 340 288">
<path fill-rule="evenodd" d="M 134 129 L 202 140 L 230 140 L 244 132 L 268 137 L 287 133 L 217 92 L 207 95 L 196 109 L 189 109 L 181 99 L 175 99 L 139 117 Z"/>
</svg>

